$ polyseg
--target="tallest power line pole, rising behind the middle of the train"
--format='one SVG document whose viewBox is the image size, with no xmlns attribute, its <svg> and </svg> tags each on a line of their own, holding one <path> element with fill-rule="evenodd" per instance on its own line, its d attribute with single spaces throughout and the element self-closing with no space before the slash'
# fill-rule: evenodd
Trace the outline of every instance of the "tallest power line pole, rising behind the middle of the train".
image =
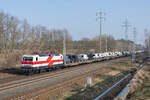
<svg viewBox="0 0 150 100">
<path fill-rule="evenodd" d="M 101 35 L 102 35 L 102 21 L 105 20 L 105 13 L 100 11 L 96 13 L 97 19 L 99 21 L 99 27 L 100 27 L 100 36 L 99 36 L 99 51 L 102 52 L 102 46 L 101 46 Z"/>
</svg>

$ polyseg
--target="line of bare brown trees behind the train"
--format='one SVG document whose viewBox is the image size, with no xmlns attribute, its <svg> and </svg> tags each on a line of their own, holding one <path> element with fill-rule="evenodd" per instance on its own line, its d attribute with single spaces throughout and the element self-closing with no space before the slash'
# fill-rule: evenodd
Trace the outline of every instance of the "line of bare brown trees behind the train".
<svg viewBox="0 0 150 100">
<path fill-rule="evenodd" d="M 0 12 L 0 51 L 2 50 L 30 50 L 30 51 L 56 51 L 63 53 L 63 39 L 66 34 L 67 53 L 99 52 L 99 36 L 95 38 L 82 38 L 73 40 L 67 29 L 48 29 L 45 26 L 31 26 L 27 20 Z M 115 40 L 111 35 L 102 35 L 102 52 L 123 51 L 131 49 L 132 41 Z M 138 47 L 140 48 L 140 46 Z"/>
</svg>

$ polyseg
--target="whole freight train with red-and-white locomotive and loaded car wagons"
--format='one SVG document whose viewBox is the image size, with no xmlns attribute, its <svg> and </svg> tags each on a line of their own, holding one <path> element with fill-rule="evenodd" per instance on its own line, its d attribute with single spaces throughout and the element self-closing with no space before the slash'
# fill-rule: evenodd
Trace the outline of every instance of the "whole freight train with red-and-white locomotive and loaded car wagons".
<svg viewBox="0 0 150 100">
<path fill-rule="evenodd" d="M 137 51 L 136 53 L 141 53 Z M 130 56 L 131 52 L 105 52 L 105 53 L 89 53 L 89 54 L 30 54 L 22 56 L 21 69 L 24 73 L 40 73 L 50 71 L 56 68 L 68 67 L 74 63 L 83 64 L 86 62 L 95 62 L 109 60 L 123 56 Z"/>
</svg>

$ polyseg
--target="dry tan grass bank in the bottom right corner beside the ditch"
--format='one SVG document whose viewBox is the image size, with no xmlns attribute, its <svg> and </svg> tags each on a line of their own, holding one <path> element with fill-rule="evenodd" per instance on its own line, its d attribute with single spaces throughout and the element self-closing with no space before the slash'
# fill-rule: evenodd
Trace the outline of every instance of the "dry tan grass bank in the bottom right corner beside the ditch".
<svg viewBox="0 0 150 100">
<path fill-rule="evenodd" d="M 150 100 L 150 70 L 142 70 L 135 75 L 127 100 Z"/>
</svg>

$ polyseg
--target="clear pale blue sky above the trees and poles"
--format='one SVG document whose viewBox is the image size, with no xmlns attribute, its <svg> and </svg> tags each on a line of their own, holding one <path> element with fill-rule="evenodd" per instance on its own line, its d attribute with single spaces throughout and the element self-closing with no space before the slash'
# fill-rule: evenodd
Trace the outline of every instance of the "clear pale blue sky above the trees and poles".
<svg viewBox="0 0 150 100">
<path fill-rule="evenodd" d="M 124 38 L 122 23 L 128 18 L 129 39 L 133 27 L 137 28 L 137 43 L 144 40 L 144 28 L 150 28 L 150 0 L 0 0 L 0 9 L 27 19 L 31 25 L 44 25 L 49 29 L 67 28 L 73 39 L 95 37 L 99 34 L 96 12 L 106 13 L 103 34 Z"/>
</svg>

